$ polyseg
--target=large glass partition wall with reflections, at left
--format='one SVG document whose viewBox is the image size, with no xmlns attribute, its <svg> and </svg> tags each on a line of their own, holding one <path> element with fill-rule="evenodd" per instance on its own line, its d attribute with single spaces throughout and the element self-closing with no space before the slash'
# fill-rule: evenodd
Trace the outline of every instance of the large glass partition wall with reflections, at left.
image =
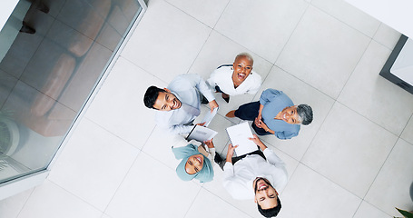
<svg viewBox="0 0 413 218">
<path fill-rule="evenodd" d="M 0 33 L 0 185 L 47 169 L 144 6 L 19 1 Z"/>
</svg>

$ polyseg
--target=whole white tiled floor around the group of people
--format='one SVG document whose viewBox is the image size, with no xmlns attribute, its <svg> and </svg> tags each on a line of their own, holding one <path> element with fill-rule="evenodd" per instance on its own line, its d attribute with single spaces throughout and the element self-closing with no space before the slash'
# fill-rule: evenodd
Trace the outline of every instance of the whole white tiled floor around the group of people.
<svg viewBox="0 0 413 218">
<path fill-rule="evenodd" d="M 261 217 L 221 186 L 182 182 L 171 139 L 143 106 L 149 85 L 177 74 L 205 79 L 249 52 L 264 79 L 314 122 L 287 141 L 261 137 L 287 163 L 279 217 L 382 217 L 413 210 L 413 95 L 379 76 L 399 33 L 342 0 L 150 0 L 101 90 L 39 187 L 0 202 L 7 218 Z M 217 94 L 211 128 L 259 95 Z M 202 113 L 208 109 L 203 108 Z"/>
</svg>

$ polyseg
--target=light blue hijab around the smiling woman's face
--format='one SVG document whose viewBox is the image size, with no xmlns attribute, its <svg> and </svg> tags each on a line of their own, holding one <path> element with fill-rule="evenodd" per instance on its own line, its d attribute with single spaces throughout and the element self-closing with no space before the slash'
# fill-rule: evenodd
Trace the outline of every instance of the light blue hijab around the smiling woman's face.
<svg viewBox="0 0 413 218">
<path fill-rule="evenodd" d="M 193 144 L 188 144 L 184 147 L 172 147 L 172 152 L 175 154 L 176 159 L 182 159 L 181 163 L 176 167 L 176 173 L 183 181 L 190 181 L 193 178 L 198 179 L 201 183 L 207 183 L 213 179 L 213 167 L 210 159 L 205 155 L 203 156 L 203 166 L 200 172 L 189 174 L 185 171 L 185 164 L 190 156 L 195 154 L 201 154 L 198 152 L 198 146 Z"/>
</svg>

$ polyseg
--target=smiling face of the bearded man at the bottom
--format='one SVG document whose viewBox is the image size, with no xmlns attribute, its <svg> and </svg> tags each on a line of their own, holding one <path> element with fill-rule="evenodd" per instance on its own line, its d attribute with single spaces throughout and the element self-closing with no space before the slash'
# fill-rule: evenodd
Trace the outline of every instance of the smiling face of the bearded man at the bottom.
<svg viewBox="0 0 413 218">
<path fill-rule="evenodd" d="M 278 193 L 268 180 L 259 177 L 254 180 L 253 185 L 255 191 L 254 202 L 260 204 L 262 209 L 270 209 L 278 205 Z"/>
</svg>

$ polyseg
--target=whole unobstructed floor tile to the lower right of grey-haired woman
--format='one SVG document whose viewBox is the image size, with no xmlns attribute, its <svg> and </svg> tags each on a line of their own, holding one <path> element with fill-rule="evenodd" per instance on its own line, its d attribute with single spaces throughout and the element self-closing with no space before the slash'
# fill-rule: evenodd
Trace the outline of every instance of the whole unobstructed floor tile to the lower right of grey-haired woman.
<svg viewBox="0 0 413 218">
<path fill-rule="evenodd" d="M 396 141 L 397 136 L 336 103 L 302 163 L 362 198 Z"/>
</svg>

